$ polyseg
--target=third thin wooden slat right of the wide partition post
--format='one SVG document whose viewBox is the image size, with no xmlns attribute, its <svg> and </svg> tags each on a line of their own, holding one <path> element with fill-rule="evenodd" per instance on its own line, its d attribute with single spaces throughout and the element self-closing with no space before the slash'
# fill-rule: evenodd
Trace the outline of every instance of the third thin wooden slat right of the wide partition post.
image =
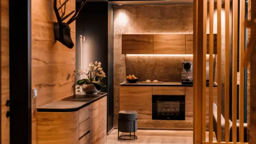
<svg viewBox="0 0 256 144">
<path fill-rule="evenodd" d="M 221 0 L 217 0 L 217 141 L 221 142 Z"/>
</svg>

